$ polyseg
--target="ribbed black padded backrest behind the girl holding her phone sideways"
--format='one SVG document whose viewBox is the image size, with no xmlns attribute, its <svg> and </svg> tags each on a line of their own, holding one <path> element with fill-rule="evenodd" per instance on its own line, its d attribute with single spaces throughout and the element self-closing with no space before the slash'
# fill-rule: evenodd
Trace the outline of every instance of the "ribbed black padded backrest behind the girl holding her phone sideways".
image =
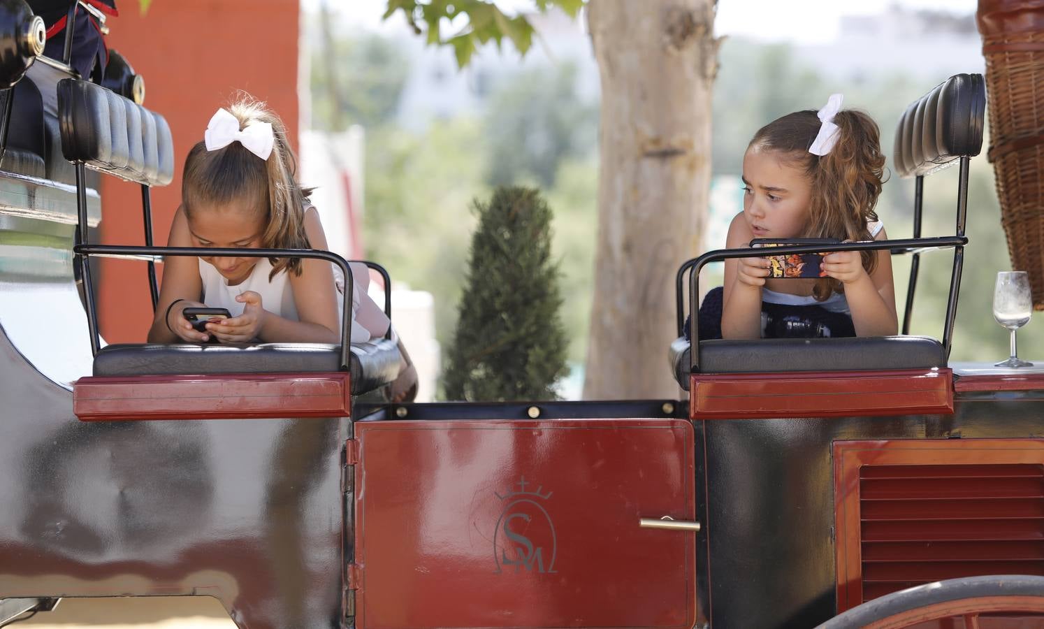
<svg viewBox="0 0 1044 629">
<path fill-rule="evenodd" d="M 982 149 L 986 81 L 954 74 L 915 100 L 896 126 L 894 162 L 900 177 L 938 170 Z"/>
</svg>

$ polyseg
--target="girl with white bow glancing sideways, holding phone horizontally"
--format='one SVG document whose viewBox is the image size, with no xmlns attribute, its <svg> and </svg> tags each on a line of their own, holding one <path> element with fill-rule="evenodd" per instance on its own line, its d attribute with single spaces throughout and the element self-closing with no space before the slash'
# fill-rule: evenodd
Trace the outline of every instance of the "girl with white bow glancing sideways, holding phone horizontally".
<svg viewBox="0 0 1044 629">
<path fill-rule="evenodd" d="M 840 106 L 834 94 L 818 112 L 788 114 L 755 134 L 743 155 L 743 211 L 729 226 L 729 249 L 754 238 L 887 237 L 874 212 L 884 167 L 877 124 Z M 722 292 L 701 307 L 701 336 L 715 310 L 726 339 L 897 333 L 888 252 L 831 253 L 822 272 L 821 279 L 772 279 L 766 257 L 726 260 Z M 710 335 L 715 323 L 707 322 Z"/>
</svg>

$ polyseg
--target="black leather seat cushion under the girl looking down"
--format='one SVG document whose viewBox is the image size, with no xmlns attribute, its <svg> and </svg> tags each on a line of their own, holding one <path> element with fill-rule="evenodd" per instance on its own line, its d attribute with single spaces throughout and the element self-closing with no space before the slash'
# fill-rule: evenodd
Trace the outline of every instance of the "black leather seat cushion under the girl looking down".
<svg viewBox="0 0 1044 629">
<path fill-rule="evenodd" d="M 395 341 L 352 345 L 352 394 L 394 380 L 402 358 Z M 102 348 L 94 358 L 96 376 L 172 374 L 302 373 L 340 370 L 340 348 L 318 343 L 161 345 L 124 344 Z"/>
</svg>

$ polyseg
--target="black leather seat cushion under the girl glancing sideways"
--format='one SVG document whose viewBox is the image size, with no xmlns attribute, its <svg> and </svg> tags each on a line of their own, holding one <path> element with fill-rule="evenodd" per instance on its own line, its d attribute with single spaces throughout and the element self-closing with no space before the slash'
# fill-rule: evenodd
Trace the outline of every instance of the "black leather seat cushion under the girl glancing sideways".
<svg viewBox="0 0 1044 629">
<path fill-rule="evenodd" d="M 931 369 L 946 365 L 943 345 L 928 336 L 721 339 L 703 341 L 699 348 L 701 373 Z M 690 351 L 684 337 L 670 344 L 674 377 L 686 391 Z"/>
</svg>

